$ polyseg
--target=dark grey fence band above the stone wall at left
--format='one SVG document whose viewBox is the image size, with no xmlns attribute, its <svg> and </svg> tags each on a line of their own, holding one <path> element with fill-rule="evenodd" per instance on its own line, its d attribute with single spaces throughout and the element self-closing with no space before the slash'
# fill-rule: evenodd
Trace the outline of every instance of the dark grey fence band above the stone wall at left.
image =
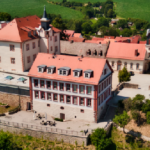
<svg viewBox="0 0 150 150">
<path fill-rule="evenodd" d="M 0 92 L 30 96 L 29 87 L 21 87 L 2 83 L 0 83 Z"/>
</svg>

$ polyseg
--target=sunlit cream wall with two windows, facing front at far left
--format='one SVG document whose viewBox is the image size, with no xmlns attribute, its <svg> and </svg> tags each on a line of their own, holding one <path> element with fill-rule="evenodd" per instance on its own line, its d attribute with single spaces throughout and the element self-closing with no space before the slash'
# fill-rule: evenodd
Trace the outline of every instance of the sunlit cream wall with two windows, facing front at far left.
<svg viewBox="0 0 150 150">
<path fill-rule="evenodd" d="M 15 46 L 14 51 L 10 51 L 10 44 Z M 0 41 L 0 70 L 12 71 L 14 69 L 17 72 L 22 72 L 22 54 L 21 43 L 14 42 L 2 42 Z M 15 58 L 15 64 L 11 64 L 10 58 Z M 12 71 L 12 72 L 15 72 Z"/>
</svg>

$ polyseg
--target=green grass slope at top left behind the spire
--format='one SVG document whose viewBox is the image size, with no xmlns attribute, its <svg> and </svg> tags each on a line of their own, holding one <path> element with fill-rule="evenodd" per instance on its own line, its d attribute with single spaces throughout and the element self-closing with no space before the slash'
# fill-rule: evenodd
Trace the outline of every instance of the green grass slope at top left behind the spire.
<svg viewBox="0 0 150 150">
<path fill-rule="evenodd" d="M 82 19 L 83 14 L 79 11 L 53 5 L 47 0 L 0 0 L 0 12 L 7 12 L 12 17 L 24 17 L 29 15 L 43 14 L 44 5 L 46 5 L 47 13 L 61 14 L 65 19 Z"/>
</svg>

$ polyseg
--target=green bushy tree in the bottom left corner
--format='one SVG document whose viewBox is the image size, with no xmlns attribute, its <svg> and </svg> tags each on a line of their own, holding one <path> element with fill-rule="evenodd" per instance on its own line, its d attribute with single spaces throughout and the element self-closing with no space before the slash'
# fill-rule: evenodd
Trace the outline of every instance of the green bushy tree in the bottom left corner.
<svg viewBox="0 0 150 150">
<path fill-rule="evenodd" d="M 12 135 L 6 132 L 0 132 L 0 149 L 12 150 L 15 144 L 12 142 Z"/>
</svg>

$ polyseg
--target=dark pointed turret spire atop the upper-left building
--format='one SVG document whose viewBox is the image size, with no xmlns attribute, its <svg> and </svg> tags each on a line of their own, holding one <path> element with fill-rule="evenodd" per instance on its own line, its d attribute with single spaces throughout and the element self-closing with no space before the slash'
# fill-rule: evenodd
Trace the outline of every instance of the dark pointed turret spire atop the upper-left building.
<svg viewBox="0 0 150 150">
<path fill-rule="evenodd" d="M 48 30 L 50 28 L 49 24 L 50 20 L 47 18 L 46 8 L 44 6 L 43 17 L 41 18 L 41 26 L 44 30 Z"/>
</svg>

